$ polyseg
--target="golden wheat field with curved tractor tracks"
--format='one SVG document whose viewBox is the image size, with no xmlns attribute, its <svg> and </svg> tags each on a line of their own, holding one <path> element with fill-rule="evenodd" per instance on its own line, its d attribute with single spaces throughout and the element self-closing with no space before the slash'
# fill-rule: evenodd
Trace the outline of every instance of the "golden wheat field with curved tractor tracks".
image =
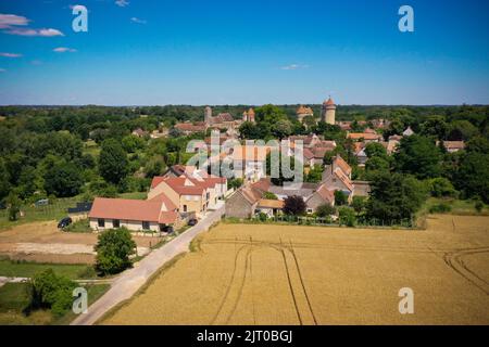
<svg viewBox="0 0 489 347">
<path fill-rule="evenodd" d="M 221 223 L 104 324 L 489 324 L 489 217 L 427 230 Z M 400 314 L 399 290 L 414 292 Z"/>
</svg>

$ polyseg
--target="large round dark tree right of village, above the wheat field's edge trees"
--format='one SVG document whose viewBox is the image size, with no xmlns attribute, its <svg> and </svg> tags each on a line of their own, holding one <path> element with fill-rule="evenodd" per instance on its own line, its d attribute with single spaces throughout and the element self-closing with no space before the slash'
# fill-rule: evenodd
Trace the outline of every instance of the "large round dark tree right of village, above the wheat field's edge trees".
<svg viewBox="0 0 489 347">
<path fill-rule="evenodd" d="M 419 179 L 439 177 L 441 174 L 441 151 L 425 137 L 404 137 L 394 154 L 396 168 Z"/>
</svg>

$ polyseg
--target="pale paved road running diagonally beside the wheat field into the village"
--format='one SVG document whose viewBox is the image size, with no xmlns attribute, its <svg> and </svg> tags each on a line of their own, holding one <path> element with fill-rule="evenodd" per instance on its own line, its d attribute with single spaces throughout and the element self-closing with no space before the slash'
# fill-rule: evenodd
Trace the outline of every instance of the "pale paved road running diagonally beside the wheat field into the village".
<svg viewBox="0 0 489 347">
<path fill-rule="evenodd" d="M 221 220 L 225 208 L 223 205 L 217 210 L 210 213 L 197 226 L 173 239 L 161 248 L 151 252 L 138 262 L 137 267 L 123 272 L 112 283 L 111 288 L 88 308 L 88 313 L 78 316 L 71 324 L 95 324 L 110 309 L 130 298 L 166 261 L 180 253 L 188 252 L 188 247 L 193 237 L 209 230 L 214 222 Z"/>
</svg>

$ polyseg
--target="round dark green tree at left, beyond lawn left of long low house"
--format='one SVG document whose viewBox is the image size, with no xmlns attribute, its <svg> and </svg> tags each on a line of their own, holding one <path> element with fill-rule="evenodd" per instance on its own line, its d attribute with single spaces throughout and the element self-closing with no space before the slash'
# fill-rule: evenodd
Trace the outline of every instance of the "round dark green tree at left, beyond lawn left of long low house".
<svg viewBox="0 0 489 347">
<path fill-rule="evenodd" d="M 58 197 L 79 194 L 83 184 L 80 170 L 73 163 L 54 166 L 45 176 L 46 192 Z"/>
</svg>

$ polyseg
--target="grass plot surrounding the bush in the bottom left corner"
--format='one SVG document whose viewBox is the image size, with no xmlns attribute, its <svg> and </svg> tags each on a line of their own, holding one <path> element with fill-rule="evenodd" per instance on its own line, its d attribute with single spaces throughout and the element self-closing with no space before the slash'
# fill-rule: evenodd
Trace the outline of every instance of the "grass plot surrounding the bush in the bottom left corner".
<svg viewBox="0 0 489 347">
<path fill-rule="evenodd" d="M 109 290 L 108 284 L 86 286 L 88 304 L 92 304 Z M 26 283 L 7 283 L 0 287 L 0 325 L 63 325 L 68 324 L 75 314 L 67 311 L 55 318 L 49 310 L 34 311 L 26 316 L 24 309 L 29 305 Z"/>
</svg>

